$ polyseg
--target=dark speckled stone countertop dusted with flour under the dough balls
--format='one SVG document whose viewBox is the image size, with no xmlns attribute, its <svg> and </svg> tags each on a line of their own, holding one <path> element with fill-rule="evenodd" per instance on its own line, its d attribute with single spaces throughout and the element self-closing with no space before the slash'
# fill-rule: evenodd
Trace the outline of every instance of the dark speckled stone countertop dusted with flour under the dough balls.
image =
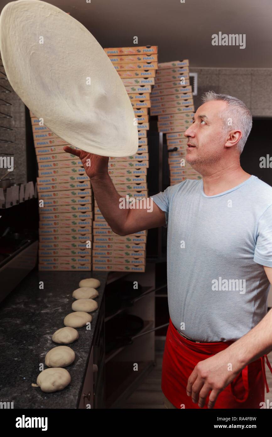
<svg viewBox="0 0 272 437">
<path fill-rule="evenodd" d="M 48 350 L 62 346 L 51 336 L 64 327 L 64 317 L 72 312 L 72 291 L 87 277 L 101 282 L 98 309 L 91 313 L 91 329 L 77 328 L 78 340 L 67 344 L 76 354 L 75 361 L 65 368 L 71 382 L 59 392 L 42 392 L 31 384 L 36 384 L 40 363 L 47 368 Z M 43 290 L 39 289 L 40 281 L 44 282 Z M 34 270 L 0 303 L 0 401 L 14 402 L 14 408 L 78 407 L 106 281 L 104 272 Z"/>
</svg>

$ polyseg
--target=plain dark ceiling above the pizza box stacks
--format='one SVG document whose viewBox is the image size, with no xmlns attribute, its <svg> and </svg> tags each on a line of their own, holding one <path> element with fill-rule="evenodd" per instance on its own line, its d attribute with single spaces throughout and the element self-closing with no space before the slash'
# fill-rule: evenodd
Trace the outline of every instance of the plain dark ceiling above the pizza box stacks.
<svg viewBox="0 0 272 437">
<path fill-rule="evenodd" d="M 87 0 L 88 1 L 88 0 Z M 8 3 L 0 0 L 1 9 Z M 272 0 L 51 0 L 103 47 L 158 45 L 159 61 L 272 68 Z M 245 34 L 246 47 L 213 46 L 212 35 Z"/>
</svg>

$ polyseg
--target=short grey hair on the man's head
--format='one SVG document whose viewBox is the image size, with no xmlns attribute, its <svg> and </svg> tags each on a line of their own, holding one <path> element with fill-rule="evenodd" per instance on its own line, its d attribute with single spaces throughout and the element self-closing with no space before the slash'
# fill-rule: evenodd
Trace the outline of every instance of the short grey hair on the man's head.
<svg viewBox="0 0 272 437">
<path fill-rule="evenodd" d="M 202 96 L 203 103 L 210 102 L 212 100 L 223 100 L 227 102 L 228 109 L 222 111 L 219 117 L 223 120 L 225 125 L 225 131 L 239 129 L 242 132 L 242 138 L 237 144 L 237 148 L 240 153 L 244 149 L 248 135 L 250 134 L 252 128 L 252 115 L 248 107 L 241 100 L 236 97 L 228 96 L 227 94 L 216 94 L 214 91 L 207 91 Z M 228 118 L 231 118 L 232 124 L 231 129 L 227 124 Z"/>
</svg>

